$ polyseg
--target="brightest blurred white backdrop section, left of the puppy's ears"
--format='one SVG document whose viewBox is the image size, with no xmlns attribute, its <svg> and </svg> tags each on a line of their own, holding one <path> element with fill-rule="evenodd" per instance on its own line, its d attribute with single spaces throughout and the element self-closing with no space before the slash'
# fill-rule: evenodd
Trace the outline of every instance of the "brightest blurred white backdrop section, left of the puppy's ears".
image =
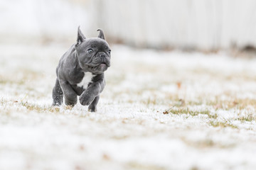
<svg viewBox="0 0 256 170">
<path fill-rule="evenodd" d="M 87 1 L 0 0 L 0 42 L 68 40 L 85 28 Z"/>
</svg>

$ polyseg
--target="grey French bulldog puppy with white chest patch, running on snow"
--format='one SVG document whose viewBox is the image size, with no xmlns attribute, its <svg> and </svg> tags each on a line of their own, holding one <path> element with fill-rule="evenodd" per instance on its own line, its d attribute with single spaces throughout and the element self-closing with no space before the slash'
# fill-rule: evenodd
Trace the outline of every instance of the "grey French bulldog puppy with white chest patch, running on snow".
<svg viewBox="0 0 256 170">
<path fill-rule="evenodd" d="M 99 29 L 100 30 L 100 29 Z M 100 30 L 98 38 L 85 38 L 78 27 L 78 40 L 61 57 L 56 69 L 53 106 L 74 106 L 79 101 L 95 112 L 105 87 L 104 72 L 110 67 L 110 46 Z"/>
</svg>

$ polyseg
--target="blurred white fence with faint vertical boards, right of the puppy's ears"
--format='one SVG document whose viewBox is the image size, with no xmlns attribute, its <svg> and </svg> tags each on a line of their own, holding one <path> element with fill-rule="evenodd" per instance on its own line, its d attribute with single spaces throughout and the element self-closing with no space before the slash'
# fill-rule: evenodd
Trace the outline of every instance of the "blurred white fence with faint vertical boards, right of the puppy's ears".
<svg viewBox="0 0 256 170">
<path fill-rule="evenodd" d="M 255 0 L 97 0 L 98 24 L 139 46 L 203 50 L 256 45 Z"/>
</svg>

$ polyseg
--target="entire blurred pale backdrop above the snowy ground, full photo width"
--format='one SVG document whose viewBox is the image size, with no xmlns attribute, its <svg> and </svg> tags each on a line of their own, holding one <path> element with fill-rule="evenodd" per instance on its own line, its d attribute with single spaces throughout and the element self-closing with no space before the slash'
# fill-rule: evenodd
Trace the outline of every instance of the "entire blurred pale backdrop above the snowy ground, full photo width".
<svg viewBox="0 0 256 170">
<path fill-rule="evenodd" d="M 0 1 L 1 43 L 74 42 L 87 37 L 159 50 L 254 50 L 253 0 Z"/>
</svg>

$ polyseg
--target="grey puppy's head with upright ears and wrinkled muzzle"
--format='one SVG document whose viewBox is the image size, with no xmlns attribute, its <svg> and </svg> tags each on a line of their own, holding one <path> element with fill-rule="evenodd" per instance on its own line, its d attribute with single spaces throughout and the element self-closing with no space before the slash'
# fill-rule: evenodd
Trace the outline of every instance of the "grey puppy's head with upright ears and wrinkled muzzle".
<svg viewBox="0 0 256 170">
<path fill-rule="evenodd" d="M 78 62 L 85 72 L 102 74 L 110 67 L 111 50 L 101 29 L 97 38 L 85 38 L 78 27 L 78 40 L 75 50 L 78 53 Z"/>
</svg>

